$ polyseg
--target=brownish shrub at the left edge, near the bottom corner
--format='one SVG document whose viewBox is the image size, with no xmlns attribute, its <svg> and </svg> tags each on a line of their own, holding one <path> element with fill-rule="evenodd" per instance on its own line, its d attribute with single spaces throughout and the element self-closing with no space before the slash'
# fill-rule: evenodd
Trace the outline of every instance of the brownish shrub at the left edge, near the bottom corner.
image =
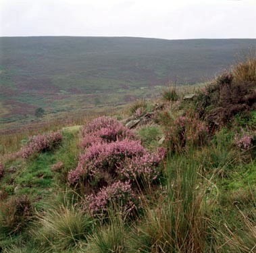
<svg viewBox="0 0 256 253">
<path fill-rule="evenodd" d="M 1 229 L 4 233 L 19 233 L 32 219 L 34 210 L 30 199 L 26 195 L 12 197 L 7 202 L 2 202 Z"/>
</svg>

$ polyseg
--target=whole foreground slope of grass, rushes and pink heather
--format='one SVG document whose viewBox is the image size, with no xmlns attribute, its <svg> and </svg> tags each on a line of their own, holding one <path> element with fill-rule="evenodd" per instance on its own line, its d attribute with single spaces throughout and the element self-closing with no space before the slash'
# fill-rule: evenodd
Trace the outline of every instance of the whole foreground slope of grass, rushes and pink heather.
<svg viewBox="0 0 256 253">
<path fill-rule="evenodd" d="M 134 129 L 101 116 L 5 142 L 2 251 L 255 252 L 255 62 L 136 101 L 118 116 Z"/>
</svg>

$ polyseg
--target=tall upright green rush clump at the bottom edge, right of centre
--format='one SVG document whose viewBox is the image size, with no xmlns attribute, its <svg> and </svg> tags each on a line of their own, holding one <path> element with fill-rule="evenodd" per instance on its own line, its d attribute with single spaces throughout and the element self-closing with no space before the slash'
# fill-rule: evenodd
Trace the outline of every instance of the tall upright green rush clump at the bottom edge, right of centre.
<svg viewBox="0 0 256 253">
<path fill-rule="evenodd" d="M 197 165 L 183 159 L 173 171 L 168 163 L 165 196 L 134 234 L 134 252 L 207 252 L 207 214 L 204 190 L 196 190 Z M 177 164 L 176 164 L 177 165 Z M 175 166 L 176 166 L 175 165 Z M 172 178 L 171 175 L 176 175 Z"/>
</svg>

